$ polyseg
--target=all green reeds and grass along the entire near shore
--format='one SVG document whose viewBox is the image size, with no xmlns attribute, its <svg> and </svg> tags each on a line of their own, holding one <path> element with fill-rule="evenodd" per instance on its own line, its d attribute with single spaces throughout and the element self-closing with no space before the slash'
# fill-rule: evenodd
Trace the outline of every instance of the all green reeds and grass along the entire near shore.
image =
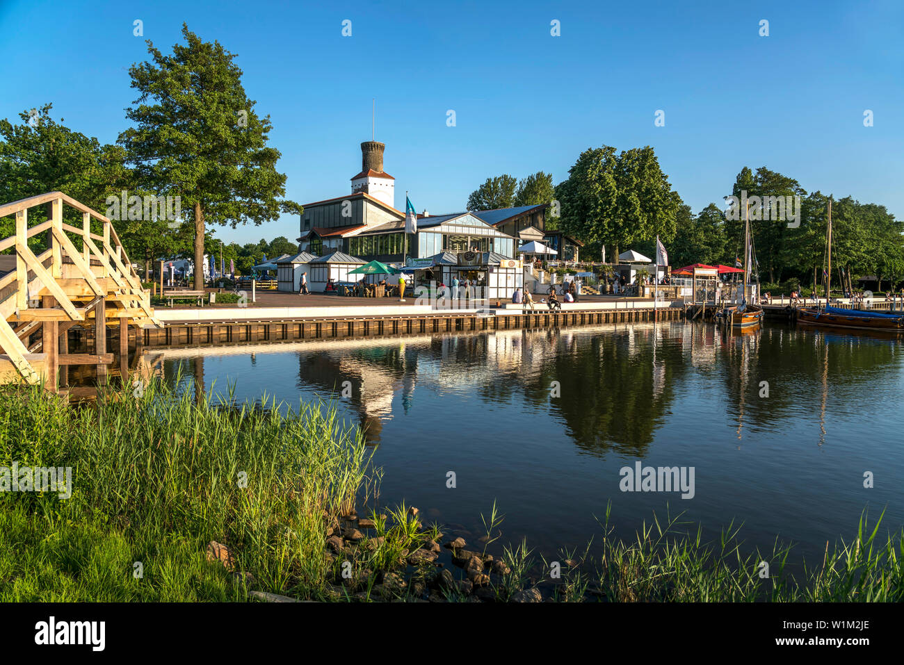
<svg viewBox="0 0 904 665">
<path fill-rule="evenodd" d="M 302 598 L 411 600 L 411 582 L 426 584 L 434 574 L 430 565 L 409 567 L 406 587 L 385 584 L 410 552 L 440 536 L 438 525 L 424 529 L 404 503 L 386 517 L 373 513 L 373 538 L 340 557 L 325 554 L 327 526 L 379 477 L 363 436 L 331 405 L 301 403 L 288 412 L 264 398 L 236 406 L 234 386 L 213 398 L 160 380 L 138 392 L 109 390 L 94 406 L 70 407 L 39 388 L 0 389 L 0 466 L 71 466 L 74 485 L 68 500 L 0 492 L 0 602 L 244 600 L 244 581 L 206 560 L 211 540 L 231 548 L 236 570 L 254 576 L 256 588 Z M 607 508 L 601 541 L 560 553 L 552 595 L 901 601 L 904 533 L 880 537 L 883 515 L 871 523 L 864 513 L 855 538 L 826 543 L 822 560 L 805 563 L 796 577 L 787 567 L 791 548 L 776 542 L 750 553 L 733 524 L 704 542 L 699 526 L 654 515 L 634 539 L 616 539 Z M 494 503 L 481 518 L 489 546 L 501 537 L 503 516 Z M 538 566 L 524 540 L 502 558 L 511 572 L 494 576 L 498 600 L 549 576 L 551 562 L 541 558 Z M 355 575 L 348 585 L 339 575 L 345 560 Z M 767 577 L 759 574 L 763 561 Z M 444 595 L 465 599 L 456 590 Z"/>
</svg>

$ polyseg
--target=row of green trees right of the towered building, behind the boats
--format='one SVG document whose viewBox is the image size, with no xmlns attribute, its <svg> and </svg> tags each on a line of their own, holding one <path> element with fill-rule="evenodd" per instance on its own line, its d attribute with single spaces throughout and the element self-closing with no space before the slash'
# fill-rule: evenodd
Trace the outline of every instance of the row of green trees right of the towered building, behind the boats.
<svg viewBox="0 0 904 665">
<path fill-rule="evenodd" d="M 819 191 L 807 193 L 794 178 L 765 166 L 755 172 L 741 169 L 726 197 L 742 195 L 770 203 L 749 213 L 754 269 L 761 282 L 810 284 L 815 274 L 822 281 L 830 199 L 833 284 L 850 276 L 877 276 L 880 282 L 895 284 L 904 278 L 904 222 L 885 206 L 861 203 L 850 195 L 837 199 Z M 788 197 L 799 197 L 799 208 L 775 206 Z M 603 248 L 609 262 L 627 248 L 652 258 L 657 235 L 673 267 L 731 266 L 743 259 L 743 212 L 727 214 L 726 203 L 711 202 L 695 214 L 673 190 L 648 145 L 622 152 L 610 145 L 585 150 L 569 177 L 555 186 L 543 172 L 520 182 L 507 174 L 487 178 L 468 197 L 467 207 L 482 211 L 552 201 L 558 202 L 560 217 L 548 228 L 582 241 L 581 258 L 588 261 L 600 260 Z"/>
</svg>

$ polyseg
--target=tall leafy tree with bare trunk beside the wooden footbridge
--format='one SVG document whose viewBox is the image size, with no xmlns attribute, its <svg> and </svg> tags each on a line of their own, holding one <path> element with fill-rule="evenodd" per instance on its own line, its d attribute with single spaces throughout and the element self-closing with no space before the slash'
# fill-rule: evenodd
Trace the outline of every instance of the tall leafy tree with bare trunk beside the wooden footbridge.
<svg viewBox="0 0 904 665">
<path fill-rule="evenodd" d="M 203 42 L 183 24 L 184 44 L 165 55 L 147 41 L 151 61 L 129 68 L 139 97 L 126 116 L 135 126 L 118 142 L 139 182 L 157 195 L 182 197 L 193 210 L 194 287 L 203 288 L 204 229 L 216 224 L 277 220 L 301 212 L 281 199 L 286 176 L 268 147 L 269 116 L 259 117 L 245 94 L 234 54 Z"/>
</svg>

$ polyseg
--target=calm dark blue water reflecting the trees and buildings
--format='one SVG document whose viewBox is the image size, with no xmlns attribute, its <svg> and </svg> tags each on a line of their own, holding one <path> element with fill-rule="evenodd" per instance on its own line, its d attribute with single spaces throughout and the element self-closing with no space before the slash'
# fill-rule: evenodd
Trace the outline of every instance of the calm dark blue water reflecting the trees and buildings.
<svg viewBox="0 0 904 665">
<path fill-rule="evenodd" d="M 637 323 L 148 355 L 169 379 L 181 366 L 186 389 L 235 382 L 240 400 L 297 405 L 349 381 L 340 411 L 375 446 L 381 505 L 418 506 L 466 538 L 496 501 L 502 542 L 580 547 L 611 501 L 619 536 L 683 511 L 706 536 L 734 520 L 751 547 L 779 538 L 815 559 L 864 509 L 904 523 L 901 349 L 785 324 Z M 637 461 L 693 467 L 693 497 L 622 492 Z"/>
</svg>

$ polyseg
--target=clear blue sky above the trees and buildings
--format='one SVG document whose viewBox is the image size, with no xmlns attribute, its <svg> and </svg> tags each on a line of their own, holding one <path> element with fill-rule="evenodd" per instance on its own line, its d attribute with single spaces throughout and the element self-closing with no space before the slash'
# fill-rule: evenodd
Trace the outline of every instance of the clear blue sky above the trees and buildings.
<svg viewBox="0 0 904 665">
<path fill-rule="evenodd" d="M 115 141 L 136 96 L 129 65 L 146 60 L 145 39 L 168 52 L 183 21 L 239 55 L 245 89 L 273 122 L 287 196 L 301 203 L 350 191 L 376 98 L 398 208 L 408 190 L 419 211 L 463 210 L 499 173 L 543 170 L 559 183 L 582 150 L 607 144 L 652 145 L 694 211 L 721 202 L 742 166 L 766 165 L 808 192 L 904 215 L 899 0 L 0 0 L 0 117 L 52 102 L 67 126 Z M 247 242 L 297 231 L 285 216 L 218 234 Z"/>
</svg>

